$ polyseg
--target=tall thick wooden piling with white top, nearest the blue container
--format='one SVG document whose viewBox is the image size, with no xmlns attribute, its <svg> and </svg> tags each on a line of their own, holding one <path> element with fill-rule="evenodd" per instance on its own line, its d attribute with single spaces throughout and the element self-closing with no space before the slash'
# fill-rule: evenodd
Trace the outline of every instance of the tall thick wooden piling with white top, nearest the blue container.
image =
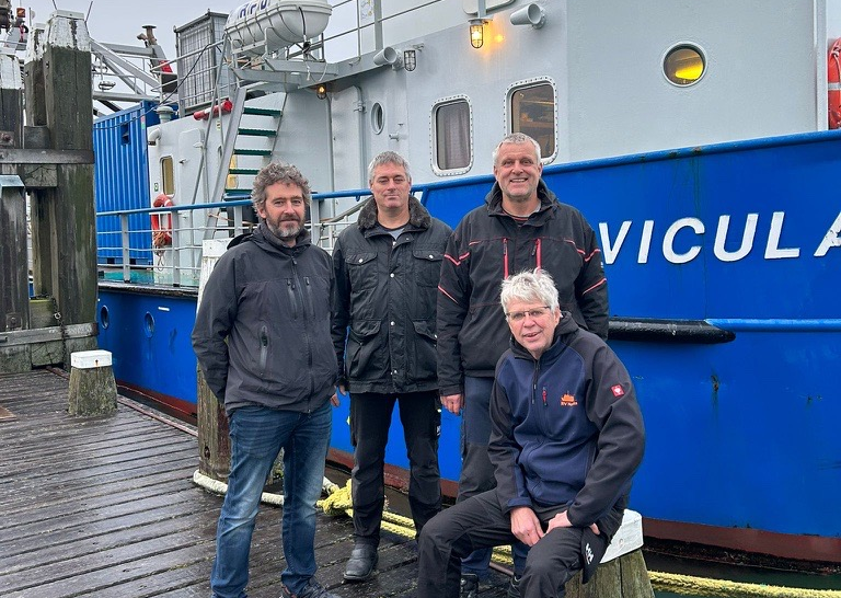
<svg viewBox="0 0 841 598">
<path fill-rule="evenodd" d="M 43 43 L 42 43 L 43 42 Z M 27 53 L 27 103 L 34 126 L 46 126 L 49 149 L 90 152 L 91 163 L 58 163 L 56 186 L 35 189 L 35 291 L 54 298 L 59 325 L 96 320 L 96 227 L 93 198 L 91 43 L 81 13 L 56 11 Z M 68 338 L 65 359 L 96 347 Z"/>
</svg>

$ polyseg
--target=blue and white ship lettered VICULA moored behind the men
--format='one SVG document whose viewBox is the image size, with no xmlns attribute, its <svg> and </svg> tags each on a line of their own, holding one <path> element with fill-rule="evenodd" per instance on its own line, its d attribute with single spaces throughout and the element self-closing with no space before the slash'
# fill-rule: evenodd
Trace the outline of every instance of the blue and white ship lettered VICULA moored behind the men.
<svg viewBox="0 0 841 598">
<path fill-rule="evenodd" d="M 175 31 L 177 91 L 94 124 L 99 343 L 122 389 L 195 417 L 203 261 L 254 222 L 268 161 L 310 179 L 330 251 L 380 151 L 454 227 L 521 131 L 599 238 L 646 537 L 841 563 L 838 2 L 252 0 Z M 445 411 L 448 492 L 459 426 Z"/>
</svg>

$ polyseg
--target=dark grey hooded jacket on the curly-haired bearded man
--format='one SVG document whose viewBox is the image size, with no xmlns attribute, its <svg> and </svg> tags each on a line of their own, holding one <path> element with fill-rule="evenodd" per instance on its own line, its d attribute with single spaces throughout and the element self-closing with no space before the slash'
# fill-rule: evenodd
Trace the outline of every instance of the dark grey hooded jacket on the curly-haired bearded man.
<svg viewBox="0 0 841 598">
<path fill-rule="evenodd" d="M 193 348 L 229 414 L 249 404 L 309 413 L 330 399 L 333 280 L 330 256 L 306 230 L 287 248 L 262 223 L 222 254 L 205 285 Z"/>
</svg>

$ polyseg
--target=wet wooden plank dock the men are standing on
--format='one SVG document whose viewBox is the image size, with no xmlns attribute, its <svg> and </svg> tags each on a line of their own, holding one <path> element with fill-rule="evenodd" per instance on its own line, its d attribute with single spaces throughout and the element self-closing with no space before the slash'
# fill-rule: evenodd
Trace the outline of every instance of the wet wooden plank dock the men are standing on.
<svg viewBox="0 0 841 598">
<path fill-rule="evenodd" d="M 115 414 L 71 417 L 68 379 L 0 376 L 0 595 L 97 598 L 210 596 L 222 499 L 193 484 L 195 428 L 119 398 Z M 263 506 L 251 554 L 252 598 L 276 598 L 285 566 L 280 509 Z M 383 532 L 378 575 L 343 584 L 347 517 L 319 515 L 318 579 L 345 598 L 413 596 L 415 542 Z M 483 597 L 505 594 L 492 572 Z"/>
</svg>

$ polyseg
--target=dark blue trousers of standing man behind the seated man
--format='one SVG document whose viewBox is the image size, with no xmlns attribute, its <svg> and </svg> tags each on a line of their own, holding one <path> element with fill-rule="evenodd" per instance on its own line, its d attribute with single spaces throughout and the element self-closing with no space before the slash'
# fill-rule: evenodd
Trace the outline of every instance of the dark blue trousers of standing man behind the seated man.
<svg viewBox="0 0 841 598">
<path fill-rule="evenodd" d="M 491 441 L 491 390 L 493 378 L 464 378 L 464 410 L 461 413 L 461 476 L 457 503 L 496 487 L 494 465 L 487 453 Z M 514 539 L 514 573 L 521 575 L 526 566 L 529 548 Z M 477 550 L 465 555 L 461 563 L 462 573 L 487 576 L 491 549 Z"/>
</svg>

